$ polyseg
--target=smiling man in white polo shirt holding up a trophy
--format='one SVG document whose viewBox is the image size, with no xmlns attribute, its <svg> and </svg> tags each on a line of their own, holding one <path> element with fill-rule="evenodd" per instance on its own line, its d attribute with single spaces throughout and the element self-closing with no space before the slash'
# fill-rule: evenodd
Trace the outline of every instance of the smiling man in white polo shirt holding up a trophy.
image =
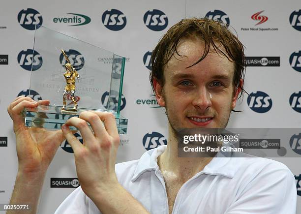
<svg viewBox="0 0 301 214">
<path fill-rule="evenodd" d="M 241 42 L 219 22 L 193 18 L 173 26 L 153 51 L 150 76 L 158 104 L 166 108 L 168 144 L 116 165 L 119 136 L 111 114 L 85 112 L 56 132 L 29 129 L 20 112 L 49 102 L 18 97 L 8 107 L 19 159 L 11 203 L 31 204 L 36 212 L 46 170 L 65 137 L 81 187 L 56 214 L 296 213 L 295 179 L 282 163 L 177 155 L 180 128 L 226 127 L 243 90 L 243 63 Z M 78 127 L 84 145 L 70 125 Z"/>
</svg>

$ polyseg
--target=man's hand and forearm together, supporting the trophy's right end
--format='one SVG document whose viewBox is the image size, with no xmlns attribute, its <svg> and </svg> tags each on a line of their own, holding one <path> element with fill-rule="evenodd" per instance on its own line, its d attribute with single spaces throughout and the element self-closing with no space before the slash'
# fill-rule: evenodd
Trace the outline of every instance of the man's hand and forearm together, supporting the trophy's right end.
<svg viewBox="0 0 301 214">
<path fill-rule="evenodd" d="M 84 144 L 77 140 L 69 126 L 80 130 Z M 148 213 L 118 182 L 115 161 L 120 138 L 113 114 L 83 112 L 79 118 L 70 118 L 61 128 L 73 149 L 81 188 L 103 214 Z"/>
</svg>

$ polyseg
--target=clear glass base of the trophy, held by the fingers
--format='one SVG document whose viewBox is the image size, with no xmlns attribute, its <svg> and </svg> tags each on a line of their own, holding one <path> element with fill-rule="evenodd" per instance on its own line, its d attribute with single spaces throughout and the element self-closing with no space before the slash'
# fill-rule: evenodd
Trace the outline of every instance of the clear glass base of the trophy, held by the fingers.
<svg viewBox="0 0 301 214">
<path fill-rule="evenodd" d="M 45 106 L 39 105 L 36 108 L 25 109 L 25 125 L 29 127 L 41 127 L 47 129 L 60 129 L 60 127 L 72 117 L 79 117 L 81 112 L 84 111 L 98 111 L 113 113 L 116 120 L 117 130 L 119 134 L 126 134 L 127 132 L 127 119 L 123 118 L 120 114 L 111 111 L 83 109 L 77 110 L 66 109 L 61 110 L 61 106 Z M 88 123 L 89 124 L 89 123 Z M 89 124 L 90 126 L 90 124 Z M 74 126 L 69 126 L 71 130 L 78 130 Z"/>
</svg>

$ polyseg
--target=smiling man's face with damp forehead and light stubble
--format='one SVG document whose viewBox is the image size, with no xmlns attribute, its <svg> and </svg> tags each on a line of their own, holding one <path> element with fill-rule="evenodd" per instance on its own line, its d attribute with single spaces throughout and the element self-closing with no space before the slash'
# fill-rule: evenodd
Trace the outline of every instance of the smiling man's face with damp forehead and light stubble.
<svg viewBox="0 0 301 214">
<path fill-rule="evenodd" d="M 196 65 L 204 52 L 200 40 L 186 39 L 164 67 L 163 89 L 156 84 L 158 104 L 166 107 L 173 129 L 226 127 L 235 107 L 238 91 L 233 93 L 234 63 L 211 50 Z"/>
</svg>

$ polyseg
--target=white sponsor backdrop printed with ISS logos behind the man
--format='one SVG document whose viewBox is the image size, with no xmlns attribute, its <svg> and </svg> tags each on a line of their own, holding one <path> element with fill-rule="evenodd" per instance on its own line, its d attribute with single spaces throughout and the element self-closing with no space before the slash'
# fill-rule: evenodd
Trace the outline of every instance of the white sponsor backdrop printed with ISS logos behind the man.
<svg viewBox="0 0 301 214">
<path fill-rule="evenodd" d="M 32 56 L 34 24 L 126 57 L 121 114 L 129 122 L 128 133 L 120 136 L 117 162 L 137 159 L 167 144 L 164 109 L 149 84 L 151 52 L 168 28 L 185 17 L 221 20 L 246 47 L 245 89 L 250 96 L 239 102 L 236 110 L 242 112 L 232 114 L 228 127 L 301 127 L 299 0 L 11 0 L 2 2 L 0 14 L 0 203 L 9 201 L 17 173 L 15 137 L 6 108 L 17 96 L 29 95 L 31 62 L 35 72 L 43 66 L 43 56 Z M 94 57 L 100 65 L 111 63 Z M 107 96 L 102 92 L 99 98 L 104 106 Z M 38 91 L 31 97 L 43 99 Z M 76 136 L 82 140 L 79 133 Z M 281 143 L 290 143 L 301 155 L 300 139 L 301 130 L 292 136 L 294 143 L 290 139 Z M 295 175 L 301 213 L 301 159 L 277 160 Z M 78 185 L 73 151 L 64 141 L 48 170 L 39 213 L 54 213 Z"/>
</svg>

